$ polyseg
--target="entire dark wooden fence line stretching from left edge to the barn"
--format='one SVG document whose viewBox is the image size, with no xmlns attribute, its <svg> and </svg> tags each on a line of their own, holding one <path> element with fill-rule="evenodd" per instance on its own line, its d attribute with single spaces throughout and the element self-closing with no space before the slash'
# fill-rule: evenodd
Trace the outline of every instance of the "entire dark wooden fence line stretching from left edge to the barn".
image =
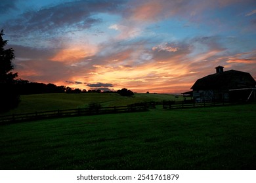
<svg viewBox="0 0 256 183">
<path fill-rule="evenodd" d="M 114 106 L 114 107 L 94 107 L 94 108 L 74 108 L 65 110 L 50 110 L 44 112 L 31 112 L 26 114 L 12 114 L 7 116 L 0 116 L 1 124 L 10 124 L 22 121 L 41 120 L 46 118 L 62 118 L 69 116 L 89 116 L 96 114 L 113 114 L 119 112 L 139 112 L 146 111 L 149 108 L 156 108 L 156 106 L 162 106 L 163 108 L 194 108 L 194 107 L 213 107 L 221 105 L 234 105 L 238 103 L 230 103 L 229 101 L 203 101 L 195 102 L 194 100 L 187 101 L 150 101 L 145 103 L 135 103 L 126 106 Z M 241 103 L 239 103 L 241 104 Z"/>
</svg>

